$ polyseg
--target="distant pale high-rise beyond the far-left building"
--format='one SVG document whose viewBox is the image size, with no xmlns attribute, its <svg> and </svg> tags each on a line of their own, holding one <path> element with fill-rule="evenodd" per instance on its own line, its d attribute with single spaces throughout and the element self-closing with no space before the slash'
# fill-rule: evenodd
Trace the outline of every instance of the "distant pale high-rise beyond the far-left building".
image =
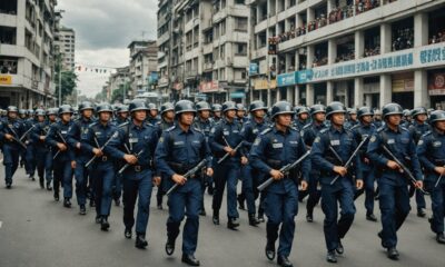
<svg viewBox="0 0 445 267">
<path fill-rule="evenodd" d="M 55 36 L 56 52 L 60 52 L 62 70 L 75 69 L 76 32 L 73 29 L 60 27 Z"/>
</svg>

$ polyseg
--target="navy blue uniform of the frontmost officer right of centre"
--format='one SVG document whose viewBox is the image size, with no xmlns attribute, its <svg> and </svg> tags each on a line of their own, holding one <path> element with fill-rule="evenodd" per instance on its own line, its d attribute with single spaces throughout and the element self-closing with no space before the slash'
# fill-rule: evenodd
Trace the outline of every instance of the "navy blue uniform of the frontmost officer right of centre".
<svg viewBox="0 0 445 267">
<path fill-rule="evenodd" d="M 264 175 L 271 169 L 296 161 L 306 152 L 306 146 L 299 132 L 287 128 L 286 132 L 276 127 L 263 131 L 255 140 L 250 150 L 250 165 Z M 308 181 L 310 161 L 300 164 L 303 179 Z M 298 212 L 298 180 L 295 169 L 284 179 L 274 181 L 266 189 L 265 210 L 267 215 L 267 240 L 275 244 L 279 233 L 278 256 L 288 257 L 295 233 L 295 216 Z"/>
</svg>

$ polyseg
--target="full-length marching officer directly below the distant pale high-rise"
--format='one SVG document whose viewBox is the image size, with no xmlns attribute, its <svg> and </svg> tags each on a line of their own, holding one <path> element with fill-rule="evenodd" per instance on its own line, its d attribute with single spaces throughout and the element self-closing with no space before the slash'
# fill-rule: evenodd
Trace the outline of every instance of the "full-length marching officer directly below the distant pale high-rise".
<svg viewBox="0 0 445 267">
<path fill-rule="evenodd" d="M 72 108 L 69 105 L 62 105 L 59 108 L 60 120 L 52 123 L 49 128 L 46 144 L 52 148 L 52 169 L 53 169 L 53 188 L 55 200 L 59 201 L 60 182 L 63 185 L 63 207 L 71 207 L 72 197 L 72 166 L 75 159 L 72 150 L 67 144 L 67 136 L 72 126 Z"/>
</svg>

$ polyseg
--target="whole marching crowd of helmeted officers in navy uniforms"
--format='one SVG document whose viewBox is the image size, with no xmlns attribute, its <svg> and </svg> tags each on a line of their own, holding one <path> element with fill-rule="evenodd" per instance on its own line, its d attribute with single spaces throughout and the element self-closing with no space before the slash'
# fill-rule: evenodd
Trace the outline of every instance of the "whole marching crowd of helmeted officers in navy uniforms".
<svg viewBox="0 0 445 267">
<path fill-rule="evenodd" d="M 1 112 L 0 140 L 6 187 L 23 166 L 29 179 L 36 172 L 40 187 L 56 201 L 79 214 L 96 208 L 96 222 L 107 231 L 112 202 L 123 202 L 125 237 L 136 233 L 136 247 L 146 248 L 154 187 L 157 207 L 168 196 L 166 253 L 172 255 L 182 230 L 181 260 L 195 258 L 199 216 L 206 215 L 204 194 L 212 195 L 212 222 L 220 224 L 227 187 L 227 227 L 239 227 L 238 205 L 247 209 L 251 226 L 265 222 L 265 255 L 280 266 L 293 266 L 290 255 L 298 202 L 307 196 L 306 220 L 314 220 L 320 201 L 329 263 L 344 254 L 342 240 L 353 225 L 355 199 L 365 195 L 366 219 L 377 221 L 378 237 L 390 259 L 398 258 L 397 230 L 415 195 L 417 216 L 428 219 L 436 240 L 445 244 L 445 111 L 403 110 L 387 103 L 379 110 L 293 107 L 278 101 L 267 108 L 253 101 L 247 110 L 233 101 L 222 105 L 189 100 L 154 103 L 132 100 L 129 106 L 82 102 L 48 110 Z M 73 179 L 76 186 L 73 187 Z M 238 180 L 243 181 L 237 195 Z M 377 187 L 375 186 L 377 184 Z M 60 192 L 62 188 L 62 194 Z M 135 206 L 137 215 L 135 220 Z M 340 211 L 338 210 L 338 207 Z M 136 224 L 136 226 L 135 226 Z M 276 243 L 278 240 L 278 248 Z"/>
</svg>

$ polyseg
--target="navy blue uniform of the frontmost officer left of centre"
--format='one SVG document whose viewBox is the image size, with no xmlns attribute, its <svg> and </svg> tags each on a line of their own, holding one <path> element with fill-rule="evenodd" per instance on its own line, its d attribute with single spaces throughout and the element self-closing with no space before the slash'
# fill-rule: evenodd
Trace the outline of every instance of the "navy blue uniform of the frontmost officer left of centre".
<svg viewBox="0 0 445 267">
<path fill-rule="evenodd" d="M 168 177 L 167 185 L 171 187 L 171 177 L 175 174 L 184 175 L 202 159 L 207 159 L 207 167 L 211 166 L 210 150 L 201 131 L 189 128 L 184 131 L 179 126 L 174 126 L 159 139 L 155 154 L 155 164 Z M 201 204 L 200 175 L 188 179 L 184 186 L 176 188 L 168 198 L 169 217 L 167 220 L 167 235 L 169 240 L 176 240 L 179 226 L 187 214 L 182 234 L 182 253 L 194 255 L 198 243 L 199 210 Z"/>
</svg>

